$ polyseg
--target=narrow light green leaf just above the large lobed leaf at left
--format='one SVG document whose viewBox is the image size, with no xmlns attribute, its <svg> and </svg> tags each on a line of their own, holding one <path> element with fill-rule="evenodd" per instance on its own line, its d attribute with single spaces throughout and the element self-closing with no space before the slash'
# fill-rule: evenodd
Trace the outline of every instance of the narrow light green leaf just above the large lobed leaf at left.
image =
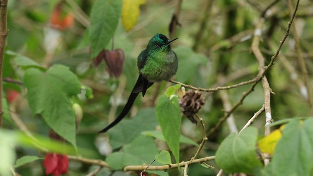
<svg viewBox="0 0 313 176">
<path fill-rule="evenodd" d="M 29 67 L 37 67 L 41 70 L 45 70 L 44 67 L 40 66 L 38 63 L 36 63 L 35 61 L 33 61 L 32 59 L 26 57 L 26 56 L 22 56 L 19 53 L 16 53 L 14 51 L 6 51 L 5 52 L 8 55 L 11 56 L 15 56 L 14 58 L 14 62 L 18 65 L 21 66 L 22 68 L 29 68 Z"/>
</svg>

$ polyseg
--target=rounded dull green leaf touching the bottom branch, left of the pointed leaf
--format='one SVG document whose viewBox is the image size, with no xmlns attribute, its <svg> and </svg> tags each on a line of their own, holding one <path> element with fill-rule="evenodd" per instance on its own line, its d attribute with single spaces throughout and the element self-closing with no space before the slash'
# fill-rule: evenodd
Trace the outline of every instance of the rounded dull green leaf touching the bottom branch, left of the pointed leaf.
<svg viewBox="0 0 313 176">
<path fill-rule="evenodd" d="M 126 165 L 142 165 L 151 163 L 158 154 L 155 141 L 147 136 L 139 135 L 131 143 L 125 145 L 120 152 L 110 154 L 106 162 L 114 170 Z"/>
</svg>

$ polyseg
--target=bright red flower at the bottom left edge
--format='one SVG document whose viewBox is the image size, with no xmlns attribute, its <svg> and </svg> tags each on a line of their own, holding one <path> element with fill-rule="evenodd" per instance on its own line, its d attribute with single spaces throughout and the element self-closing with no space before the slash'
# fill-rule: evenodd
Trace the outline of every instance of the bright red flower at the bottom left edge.
<svg viewBox="0 0 313 176">
<path fill-rule="evenodd" d="M 44 161 L 45 175 L 53 174 L 60 176 L 66 174 L 68 169 L 68 158 L 66 154 L 47 153 Z"/>
</svg>

